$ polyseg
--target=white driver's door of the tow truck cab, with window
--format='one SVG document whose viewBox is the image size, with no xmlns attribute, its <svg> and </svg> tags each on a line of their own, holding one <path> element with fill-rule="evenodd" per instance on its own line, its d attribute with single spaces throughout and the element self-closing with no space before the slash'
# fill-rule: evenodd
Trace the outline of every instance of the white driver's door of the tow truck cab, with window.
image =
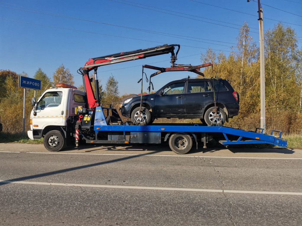
<svg viewBox="0 0 302 226">
<path fill-rule="evenodd" d="M 45 93 L 37 103 L 37 115 L 33 117 L 37 129 L 47 125 L 60 125 L 63 123 L 63 92 L 51 91 Z"/>
</svg>

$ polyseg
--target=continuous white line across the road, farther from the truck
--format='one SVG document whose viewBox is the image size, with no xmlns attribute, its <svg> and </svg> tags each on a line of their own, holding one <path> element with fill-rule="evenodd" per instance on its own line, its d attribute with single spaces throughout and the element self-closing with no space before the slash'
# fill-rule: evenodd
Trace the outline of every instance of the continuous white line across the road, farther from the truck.
<svg viewBox="0 0 302 226">
<path fill-rule="evenodd" d="M 125 189 L 145 189 L 145 190 L 224 192 L 224 193 L 244 193 L 244 194 L 302 195 L 302 192 L 240 191 L 240 190 L 215 190 L 215 189 L 195 189 L 195 188 L 177 188 L 177 187 L 118 186 L 118 185 L 99 185 L 99 184 L 62 184 L 62 183 L 11 181 L 11 180 L 0 180 L 0 183 L 74 186 L 74 187 L 125 188 Z"/>
</svg>

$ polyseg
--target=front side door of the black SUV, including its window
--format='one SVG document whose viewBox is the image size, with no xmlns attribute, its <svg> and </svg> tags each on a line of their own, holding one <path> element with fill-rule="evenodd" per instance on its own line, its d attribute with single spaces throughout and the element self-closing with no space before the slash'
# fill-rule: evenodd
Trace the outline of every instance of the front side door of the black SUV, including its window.
<svg viewBox="0 0 302 226">
<path fill-rule="evenodd" d="M 169 116 L 184 116 L 185 115 L 185 82 L 169 84 L 164 88 L 164 93 L 156 95 L 155 111 L 156 115 L 162 118 Z"/>
</svg>

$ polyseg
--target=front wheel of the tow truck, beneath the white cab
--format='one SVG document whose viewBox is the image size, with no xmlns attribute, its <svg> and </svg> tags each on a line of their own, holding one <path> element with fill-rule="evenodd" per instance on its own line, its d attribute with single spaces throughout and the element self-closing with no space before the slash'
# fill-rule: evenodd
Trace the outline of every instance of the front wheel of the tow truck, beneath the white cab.
<svg viewBox="0 0 302 226">
<path fill-rule="evenodd" d="M 66 138 L 59 130 L 52 130 L 45 134 L 44 147 L 50 152 L 58 152 L 66 147 Z"/>
</svg>

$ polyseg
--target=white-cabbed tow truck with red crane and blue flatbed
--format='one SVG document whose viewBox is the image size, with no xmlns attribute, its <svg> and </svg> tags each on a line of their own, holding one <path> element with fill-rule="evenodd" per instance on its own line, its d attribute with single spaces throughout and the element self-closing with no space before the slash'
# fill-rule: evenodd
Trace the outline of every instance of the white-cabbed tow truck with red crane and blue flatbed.
<svg viewBox="0 0 302 226">
<path fill-rule="evenodd" d="M 175 48 L 178 48 L 175 53 Z M 224 146 L 233 144 L 266 143 L 280 147 L 287 146 L 287 140 L 281 138 L 282 131 L 272 130 L 270 135 L 264 129 L 245 131 L 225 126 L 205 126 L 203 124 L 151 124 L 134 125 L 130 121 L 123 122 L 117 109 L 103 107 L 100 104 L 97 69 L 100 66 L 137 60 L 162 54 L 171 54 L 171 67 L 159 68 L 143 65 L 143 68 L 158 70 L 151 77 L 165 71 L 191 71 L 199 75 L 202 67 L 176 64 L 180 45 L 162 45 L 148 49 L 138 49 L 89 59 L 84 67 L 78 70 L 83 76 L 84 92 L 75 86 L 64 83 L 47 89 L 36 100 L 31 100 L 33 110 L 30 116 L 31 130 L 27 131 L 30 139 L 43 137 L 45 148 L 51 152 L 63 150 L 67 145 L 78 148 L 81 143 L 92 144 L 133 144 L 133 143 L 165 143 L 177 154 L 185 154 L 192 148 L 193 141 L 207 143 L 215 138 Z M 94 71 L 95 93 L 89 72 Z M 144 73 L 144 72 L 143 72 Z M 150 78 L 151 78 L 150 77 Z M 150 91 L 149 84 L 149 91 Z M 277 133 L 277 136 L 275 134 Z"/>
</svg>

